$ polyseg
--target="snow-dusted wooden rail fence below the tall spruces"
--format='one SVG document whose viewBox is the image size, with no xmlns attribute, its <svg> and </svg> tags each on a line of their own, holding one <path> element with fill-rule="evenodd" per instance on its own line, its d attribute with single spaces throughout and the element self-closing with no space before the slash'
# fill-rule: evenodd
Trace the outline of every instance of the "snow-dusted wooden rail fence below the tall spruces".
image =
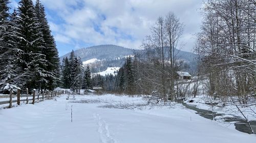
<svg viewBox="0 0 256 143">
<path fill-rule="evenodd" d="M 12 103 L 16 103 L 17 105 L 20 105 L 20 102 L 28 104 L 29 101 L 32 100 L 32 104 L 35 104 L 35 101 L 43 101 L 43 100 L 50 100 L 53 99 L 56 96 L 59 96 L 61 94 L 66 94 L 67 91 L 59 90 L 59 91 L 49 91 L 46 90 L 42 93 L 36 93 L 36 90 L 33 91 L 32 95 L 29 94 L 28 89 L 27 89 L 27 94 L 20 94 L 20 89 L 17 90 L 17 94 L 13 95 L 12 91 L 10 91 L 10 95 L 3 95 L 0 97 L 1 98 L 10 98 L 9 101 L 0 101 L 0 105 L 2 104 L 8 104 L 9 103 L 9 108 L 12 107 Z M 14 97 L 16 97 L 16 100 L 12 100 Z M 20 99 L 20 97 L 27 97 L 26 99 Z M 29 99 L 29 97 L 32 97 L 32 99 Z"/>
</svg>

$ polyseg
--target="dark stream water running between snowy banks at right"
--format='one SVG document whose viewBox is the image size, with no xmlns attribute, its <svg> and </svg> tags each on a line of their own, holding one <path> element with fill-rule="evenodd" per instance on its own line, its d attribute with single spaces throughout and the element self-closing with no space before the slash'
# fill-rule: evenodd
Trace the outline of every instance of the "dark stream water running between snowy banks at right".
<svg viewBox="0 0 256 143">
<path fill-rule="evenodd" d="M 189 105 L 189 104 L 186 104 L 184 102 L 182 102 L 182 105 L 184 105 L 188 109 L 197 111 L 196 113 L 198 115 L 200 115 L 200 116 L 202 116 L 206 119 L 212 120 L 212 118 L 213 118 L 212 117 L 212 111 L 210 111 L 210 110 L 200 109 L 200 108 L 197 108 L 196 105 Z M 215 117 L 222 117 L 222 116 L 224 116 L 224 114 L 213 112 L 213 116 L 214 116 L 214 118 Z M 241 117 L 236 117 L 236 116 L 234 116 L 234 117 L 224 117 L 223 119 L 226 123 L 236 122 L 236 123 L 234 123 L 234 126 L 236 127 L 236 130 L 252 134 L 252 132 L 249 128 L 249 125 L 247 124 L 247 121 L 245 119 L 242 119 Z M 251 125 L 254 133 L 256 133 L 256 121 L 250 121 L 250 125 Z"/>
</svg>

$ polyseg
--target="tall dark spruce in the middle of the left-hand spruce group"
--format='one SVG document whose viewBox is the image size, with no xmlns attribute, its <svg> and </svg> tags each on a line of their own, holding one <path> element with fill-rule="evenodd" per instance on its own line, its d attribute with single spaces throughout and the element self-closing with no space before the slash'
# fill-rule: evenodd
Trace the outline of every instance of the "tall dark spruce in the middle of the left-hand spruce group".
<svg viewBox="0 0 256 143">
<path fill-rule="evenodd" d="M 47 61 L 46 56 L 41 53 L 45 50 L 44 40 L 31 0 L 19 2 L 16 24 L 19 38 L 17 48 L 24 51 L 20 55 L 22 61 L 19 64 L 30 73 L 24 86 L 30 90 L 33 88 L 40 89 L 41 83 L 47 82 L 47 71 L 45 70 Z"/>
</svg>

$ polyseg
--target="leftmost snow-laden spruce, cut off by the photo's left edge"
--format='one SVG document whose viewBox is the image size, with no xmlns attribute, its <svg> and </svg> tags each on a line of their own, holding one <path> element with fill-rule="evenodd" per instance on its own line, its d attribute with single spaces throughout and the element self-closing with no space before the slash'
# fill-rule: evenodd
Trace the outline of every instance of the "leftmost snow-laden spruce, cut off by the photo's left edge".
<svg viewBox="0 0 256 143">
<path fill-rule="evenodd" d="M 22 82 L 25 74 L 17 62 L 22 51 L 16 49 L 16 11 L 9 14 L 9 1 L 0 1 L 0 90 L 12 90 Z"/>
</svg>

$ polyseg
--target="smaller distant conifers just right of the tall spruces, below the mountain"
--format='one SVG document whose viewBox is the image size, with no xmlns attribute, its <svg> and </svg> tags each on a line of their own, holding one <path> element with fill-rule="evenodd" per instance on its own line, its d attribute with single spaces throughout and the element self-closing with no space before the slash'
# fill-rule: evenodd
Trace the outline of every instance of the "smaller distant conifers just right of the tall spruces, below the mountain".
<svg viewBox="0 0 256 143">
<path fill-rule="evenodd" d="M 105 76 L 92 74 L 88 66 L 83 67 L 79 57 L 72 50 L 69 58 L 63 58 L 61 65 L 61 87 L 73 92 L 92 90 L 93 86 L 102 87 L 105 91 L 113 92 L 116 77 L 112 74 Z"/>
</svg>

